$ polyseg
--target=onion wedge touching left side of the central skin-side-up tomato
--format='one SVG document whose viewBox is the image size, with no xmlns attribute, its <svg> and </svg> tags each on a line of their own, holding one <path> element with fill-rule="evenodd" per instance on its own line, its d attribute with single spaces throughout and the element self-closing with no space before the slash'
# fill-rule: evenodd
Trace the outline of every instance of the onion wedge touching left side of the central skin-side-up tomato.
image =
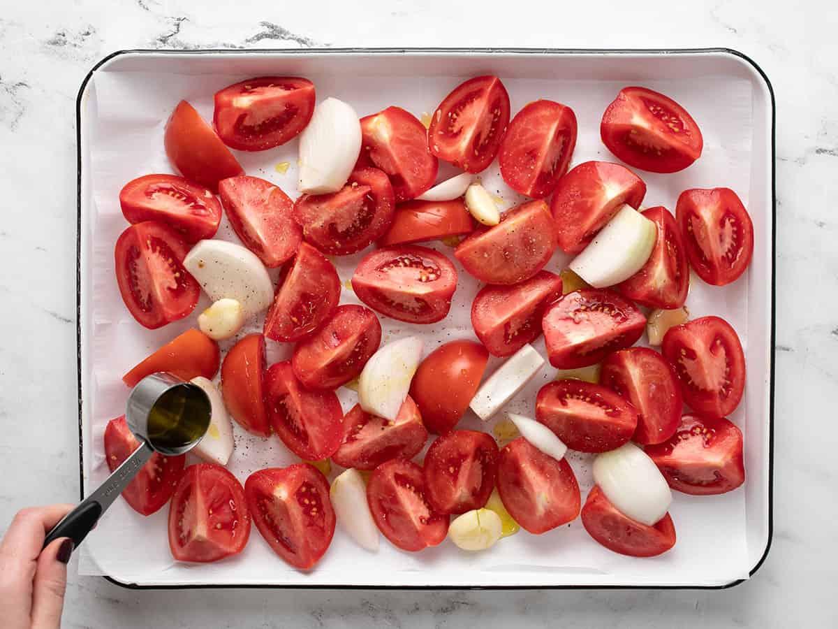
<svg viewBox="0 0 838 629">
<path fill-rule="evenodd" d="M 358 402 L 367 413 L 396 421 L 422 360 L 418 336 L 394 340 L 370 357 L 358 378 Z"/>
</svg>

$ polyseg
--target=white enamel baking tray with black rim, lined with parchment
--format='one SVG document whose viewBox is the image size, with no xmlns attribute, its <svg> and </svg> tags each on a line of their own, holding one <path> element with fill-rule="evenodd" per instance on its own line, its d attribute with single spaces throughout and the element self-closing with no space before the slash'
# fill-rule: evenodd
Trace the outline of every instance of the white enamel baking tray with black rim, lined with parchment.
<svg viewBox="0 0 838 629">
<path fill-rule="evenodd" d="M 78 342 L 80 471 L 82 492 L 106 475 L 101 432 L 122 413 L 127 368 L 189 325 L 144 330 L 127 314 L 113 281 L 112 250 L 126 226 L 117 194 L 128 180 L 147 172 L 168 172 L 163 155 L 163 122 L 181 98 L 211 117 L 212 94 L 255 75 L 304 75 L 317 86 L 318 101 L 338 96 L 361 116 L 392 104 L 419 116 L 463 79 L 499 75 L 510 91 L 512 112 L 546 97 L 572 106 L 579 142 L 572 164 L 613 160 L 598 141 L 604 107 L 622 86 L 639 84 L 665 91 L 696 117 L 705 134 L 705 153 L 680 174 L 640 173 L 649 185 L 644 205 L 675 209 L 689 187 L 730 186 L 753 219 L 755 247 L 747 274 L 732 287 L 693 283 L 688 306 L 694 315 L 721 314 L 742 336 L 747 356 L 745 398 L 732 419 L 745 434 L 745 486 L 725 496 L 676 494 L 670 513 L 678 543 L 660 558 L 632 559 L 599 547 L 578 518 L 542 536 L 520 532 L 489 553 L 465 554 L 446 541 L 419 554 L 403 553 L 382 538 L 377 555 L 354 546 L 338 527 L 332 547 L 308 573 L 274 556 L 256 528 L 240 556 L 217 564 L 173 562 L 166 541 L 168 507 L 143 518 L 117 501 L 81 548 L 80 572 L 101 574 L 129 587 L 330 587 L 330 588 L 720 588 L 747 579 L 762 563 L 771 540 L 773 413 L 773 94 L 768 78 L 752 60 L 727 49 L 561 50 L 561 49 L 295 49 L 124 51 L 101 60 L 85 78 L 78 98 Z M 296 142 L 274 152 L 239 153 L 249 174 L 274 180 L 296 196 Z M 281 175 L 273 164 L 287 161 Z M 496 165 L 490 171 L 496 170 Z M 496 172 L 484 176 L 507 205 L 515 195 Z M 221 237 L 230 236 L 222 226 Z M 442 244 L 435 247 L 450 255 Z M 561 268 L 557 254 L 552 268 Z M 348 279 L 357 257 L 339 261 Z M 472 335 L 468 303 L 476 283 L 462 273 L 452 314 L 428 326 L 427 351 L 442 340 Z M 458 302 L 462 299 L 462 302 Z M 342 301 L 353 301 L 344 290 Z M 196 312 L 199 312 L 199 308 Z M 400 325 L 385 320 L 385 335 Z M 404 326 L 401 325 L 401 328 Z M 401 330 L 403 333 L 404 330 Z M 543 351 L 543 344 L 536 344 Z M 287 350 L 272 346 L 277 360 Z M 546 369 L 510 405 L 526 412 L 535 391 L 552 377 Z M 341 391 L 348 408 L 352 392 Z M 467 418 L 477 427 L 476 418 Z M 484 429 L 489 429 L 484 426 Z M 250 453 L 245 456 L 244 453 Z M 266 465 L 287 465 L 294 457 L 278 439 L 269 445 L 239 434 L 231 469 L 244 481 Z M 589 460 L 571 458 L 582 498 L 591 486 Z"/>
</svg>

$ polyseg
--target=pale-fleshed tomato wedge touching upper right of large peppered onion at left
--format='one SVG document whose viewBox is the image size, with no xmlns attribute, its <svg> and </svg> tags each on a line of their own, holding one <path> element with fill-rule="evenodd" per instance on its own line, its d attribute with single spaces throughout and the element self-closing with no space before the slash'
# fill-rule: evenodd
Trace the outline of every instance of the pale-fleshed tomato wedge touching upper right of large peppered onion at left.
<svg viewBox="0 0 838 629">
<path fill-rule="evenodd" d="M 290 259 L 303 230 L 292 217 L 293 202 L 270 181 L 243 174 L 218 185 L 227 218 L 242 244 L 268 268 Z"/>
</svg>

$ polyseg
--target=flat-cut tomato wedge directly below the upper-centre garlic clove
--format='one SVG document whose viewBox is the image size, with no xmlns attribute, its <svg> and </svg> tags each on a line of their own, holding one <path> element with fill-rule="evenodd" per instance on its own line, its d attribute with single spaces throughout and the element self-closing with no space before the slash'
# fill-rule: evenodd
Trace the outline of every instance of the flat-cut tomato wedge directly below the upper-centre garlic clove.
<svg viewBox="0 0 838 629">
<path fill-rule="evenodd" d="M 504 213 L 498 225 L 478 228 L 458 244 L 454 256 L 481 282 L 515 284 L 544 268 L 556 251 L 556 230 L 544 201 Z"/>
</svg>

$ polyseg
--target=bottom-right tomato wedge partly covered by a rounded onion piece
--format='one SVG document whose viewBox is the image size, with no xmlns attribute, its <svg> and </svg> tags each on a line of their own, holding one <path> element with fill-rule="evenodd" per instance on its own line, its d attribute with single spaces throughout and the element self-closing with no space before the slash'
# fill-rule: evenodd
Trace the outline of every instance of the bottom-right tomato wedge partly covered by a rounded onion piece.
<svg viewBox="0 0 838 629">
<path fill-rule="evenodd" d="M 675 526 L 667 513 L 653 526 L 617 510 L 599 486 L 593 486 L 582 507 L 582 526 L 598 543 L 629 557 L 654 557 L 675 546 Z"/>
</svg>

